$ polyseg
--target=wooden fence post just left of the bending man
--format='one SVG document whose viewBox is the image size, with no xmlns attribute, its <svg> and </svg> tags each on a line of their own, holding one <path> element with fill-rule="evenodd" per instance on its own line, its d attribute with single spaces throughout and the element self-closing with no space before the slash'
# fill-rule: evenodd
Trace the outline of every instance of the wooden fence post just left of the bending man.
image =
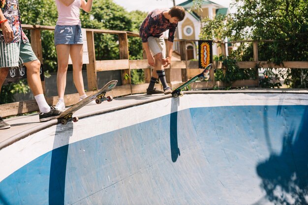
<svg viewBox="0 0 308 205">
<path fill-rule="evenodd" d="M 129 61 L 128 53 L 128 38 L 127 33 L 120 33 L 119 35 L 119 49 L 120 49 L 120 59 L 127 59 Z M 122 73 L 122 84 L 127 85 L 131 84 L 130 80 L 130 69 L 121 70 Z M 128 79 L 125 79 L 125 76 L 128 75 Z M 131 86 L 130 86 L 131 87 Z"/>
</svg>

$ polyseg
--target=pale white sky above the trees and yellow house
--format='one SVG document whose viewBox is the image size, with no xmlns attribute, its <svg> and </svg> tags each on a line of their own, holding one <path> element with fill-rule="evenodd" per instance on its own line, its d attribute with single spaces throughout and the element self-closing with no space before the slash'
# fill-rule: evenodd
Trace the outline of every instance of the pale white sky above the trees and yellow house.
<svg viewBox="0 0 308 205">
<path fill-rule="evenodd" d="M 186 0 L 176 0 L 176 4 L 185 2 Z M 231 0 L 211 0 L 217 4 L 229 7 Z M 127 11 L 140 10 L 152 11 L 155 8 L 170 8 L 173 6 L 173 0 L 114 0 L 117 4 L 123 6 Z"/>
</svg>

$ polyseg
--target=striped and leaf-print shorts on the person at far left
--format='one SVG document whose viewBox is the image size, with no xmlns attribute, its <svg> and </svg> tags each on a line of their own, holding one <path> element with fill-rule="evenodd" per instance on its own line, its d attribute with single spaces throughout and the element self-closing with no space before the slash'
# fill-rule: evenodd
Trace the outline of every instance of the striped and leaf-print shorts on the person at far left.
<svg viewBox="0 0 308 205">
<path fill-rule="evenodd" d="M 0 42 L 0 68 L 18 67 L 23 63 L 37 60 L 30 43 Z"/>
</svg>

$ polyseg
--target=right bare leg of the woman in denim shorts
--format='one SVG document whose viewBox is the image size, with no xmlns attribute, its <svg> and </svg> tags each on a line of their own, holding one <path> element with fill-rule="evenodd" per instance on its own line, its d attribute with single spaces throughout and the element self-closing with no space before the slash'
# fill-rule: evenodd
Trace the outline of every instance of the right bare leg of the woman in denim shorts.
<svg viewBox="0 0 308 205">
<path fill-rule="evenodd" d="M 70 57 L 73 63 L 73 79 L 79 96 L 85 95 L 84 80 L 82 78 L 83 45 L 74 44 L 70 47 Z"/>
</svg>

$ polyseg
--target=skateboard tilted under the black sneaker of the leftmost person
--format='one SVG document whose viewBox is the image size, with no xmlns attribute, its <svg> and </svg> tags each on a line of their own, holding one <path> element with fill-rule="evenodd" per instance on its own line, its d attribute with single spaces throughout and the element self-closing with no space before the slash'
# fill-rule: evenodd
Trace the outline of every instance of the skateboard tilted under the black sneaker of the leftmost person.
<svg viewBox="0 0 308 205">
<path fill-rule="evenodd" d="M 108 82 L 96 93 L 88 96 L 87 98 L 74 104 L 67 110 L 63 111 L 56 119 L 58 119 L 58 122 L 60 121 L 62 125 L 66 125 L 67 122 L 69 121 L 77 122 L 79 119 L 78 117 L 74 117 L 73 114 L 74 112 L 76 112 L 77 110 L 85 106 L 86 104 L 90 103 L 93 100 L 95 100 L 96 104 L 100 104 L 103 101 L 108 101 L 108 102 L 112 101 L 113 100 L 112 96 L 105 97 L 105 95 L 106 95 L 106 92 L 116 87 L 117 83 L 118 83 L 118 80 L 112 80 Z"/>
</svg>

